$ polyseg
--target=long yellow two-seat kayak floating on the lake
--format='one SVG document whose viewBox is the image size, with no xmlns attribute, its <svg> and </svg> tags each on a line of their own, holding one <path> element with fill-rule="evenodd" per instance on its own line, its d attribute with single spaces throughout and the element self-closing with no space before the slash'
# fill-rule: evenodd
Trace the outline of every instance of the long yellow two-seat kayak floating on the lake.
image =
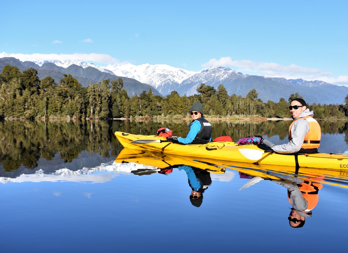
<svg viewBox="0 0 348 253">
<path fill-rule="evenodd" d="M 310 155 L 282 155 L 267 152 L 256 145 L 238 145 L 235 142 L 209 142 L 207 144 L 188 144 L 166 141 L 165 137 L 155 135 L 135 135 L 115 132 L 117 139 L 125 148 L 154 150 L 179 156 L 199 157 L 242 163 L 268 164 L 348 170 L 348 155 L 317 153 Z M 131 143 L 132 141 L 136 143 Z M 151 141 L 151 142 L 150 142 Z"/>
</svg>

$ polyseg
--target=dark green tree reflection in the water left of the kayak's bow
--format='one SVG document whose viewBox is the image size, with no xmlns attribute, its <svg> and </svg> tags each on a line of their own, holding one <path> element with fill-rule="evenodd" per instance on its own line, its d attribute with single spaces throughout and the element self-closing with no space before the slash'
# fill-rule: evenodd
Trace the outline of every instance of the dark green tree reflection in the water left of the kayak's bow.
<svg viewBox="0 0 348 253">
<path fill-rule="evenodd" d="M 11 171 L 21 165 L 34 169 L 40 157 L 51 160 L 56 154 L 70 163 L 84 150 L 116 156 L 122 146 L 115 142 L 113 128 L 117 121 L 0 121 L 0 160 Z"/>
</svg>

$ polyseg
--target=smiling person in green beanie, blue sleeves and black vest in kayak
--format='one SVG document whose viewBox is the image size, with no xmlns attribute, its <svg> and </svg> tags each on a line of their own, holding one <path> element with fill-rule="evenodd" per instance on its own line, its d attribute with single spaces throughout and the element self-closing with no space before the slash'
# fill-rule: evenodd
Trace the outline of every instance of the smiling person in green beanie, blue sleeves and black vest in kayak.
<svg viewBox="0 0 348 253">
<path fill-rule="evenodd" d="M 189 125 L 189 133 L 186 138 L 172 136 L 167 137 L 167 140 L 183 144 L 205 144 L 211 141 L 212 124 L 203 118 L 203 106 L 199 101 L 191 106 L 190 114 L 192 122 Z"/>
</svg>

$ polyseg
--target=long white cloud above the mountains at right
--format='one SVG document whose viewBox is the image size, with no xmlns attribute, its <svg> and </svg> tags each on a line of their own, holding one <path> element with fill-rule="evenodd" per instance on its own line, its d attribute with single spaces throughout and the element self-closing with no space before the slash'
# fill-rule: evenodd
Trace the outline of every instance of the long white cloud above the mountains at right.
<svg viewBox="0 0 348 253">
<path fill-rule="evenodd" d="M 236 71 L 244 74 L 266 75 L 270 77 L 284 77 L 286 79 L 299 79 L 313 81 L 321 80 L 330 84 L 348 85 L 348 76 L 333 77 L 334 73 L 326 70 L 306 68 L 295 64 L 288 66 L 273 62 L 253 62 L 250 60 L 232 60 L 231 57 L 221 57 L 219 60 L 211 59 L 202 64 L 203 68 L 212 66 L 231 66 Z"/>
</svg>

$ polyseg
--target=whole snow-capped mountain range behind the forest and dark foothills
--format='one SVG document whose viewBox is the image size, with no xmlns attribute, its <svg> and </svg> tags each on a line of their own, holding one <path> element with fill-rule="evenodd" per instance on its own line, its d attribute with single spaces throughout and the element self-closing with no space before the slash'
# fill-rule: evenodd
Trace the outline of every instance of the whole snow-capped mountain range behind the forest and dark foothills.
<svg viewBox="0 0 348 253">
<path fill-rule="evenodd" d="M 13 56 L 16 55 L 7 54 L 5 52 L 0 53 L 0 59 Z M 29 64 L 30 62 L 23 63 L 24 67 L 31 66 Z M 319 80 L 306 81 L 303 79 L 294 80 L 268 76 L 251 76 L 236 72 L 227 67 L 211 67 L 194 72 L 174 68 L 165 64 L 116 64 L 96 66 L 93 63 L 72 60 L 34 61 L 33 63 L 35 63 L 36 66 L 42 66 L 42 68 L 46 65 L 44 68 L 45 70 L 50 69 L 50 66 L 48 66 L 47 63 L 54 63 L 58 67 L 65 68 L 66 72 L 69 71 L 68 69 L 71 69 L 72 65 L 77 65 L 82 69 L 92 67 L 101 71 L 100 73 L 105 72 L 107 73 L 106 75 L 114 75 L 117 78 L 125 77 L 125 79 L 136 80 L 145 85 L 143 85 L 142 88 L 139 88 L 138 86 L 134 89 L 125 83 L 125 89 L 130 96 L 134 94 L 139 95 L 143 89 L 147 89 L 147 92 L 149 87 L 153 87 L 153 92 L 159 92 L 163 96 L 171 94 L 173 90 L 179 93 L 180 96 L 183 96 L 184 94 L 190 96 L 197 94 L 197 87 L 201 83 L 213 86 L 215 89 L 217 89 L 220 84 L 223 84 L 229 95 L 236 94 L 243 97 L 246 96 L 251 89 L 256 89 L 256 92 L 258 92 L 258 98 L 263 102 L 267 102 L 268 100 L 279 102 L 280 98 L 285 98 L 285 100 L 287 100 L 291 94 L 299 93 L 300 96 L 304 96 L 304 99 L 308 103 L 342 104 L 348 94 L 348 87 L 346 86 L 332 85 Z M 93 77 L 103 76 L 92 72 L 87 71 L 86 73 L 81 73 L 81 71 L 79 71 L 72 74 L 76 75 L 80 73 L 79 75 L 82 77 L 82 79 L 80 79 L 81 81 L 86 77 L 90 80 Z M 111 76 L 105 76 L 104 78 L 111 79 Z M 58 79 L 58 77 L 56 77 L 56 79 Z M 91 81 L 93 81 L 93 83 L 95 82 L 95 80 L 90 80 L 88 81 L 88 84 L 83 85 L 88 86 Z M 318 98 L 320 99 L 318 100 Z"/>
</svg>

